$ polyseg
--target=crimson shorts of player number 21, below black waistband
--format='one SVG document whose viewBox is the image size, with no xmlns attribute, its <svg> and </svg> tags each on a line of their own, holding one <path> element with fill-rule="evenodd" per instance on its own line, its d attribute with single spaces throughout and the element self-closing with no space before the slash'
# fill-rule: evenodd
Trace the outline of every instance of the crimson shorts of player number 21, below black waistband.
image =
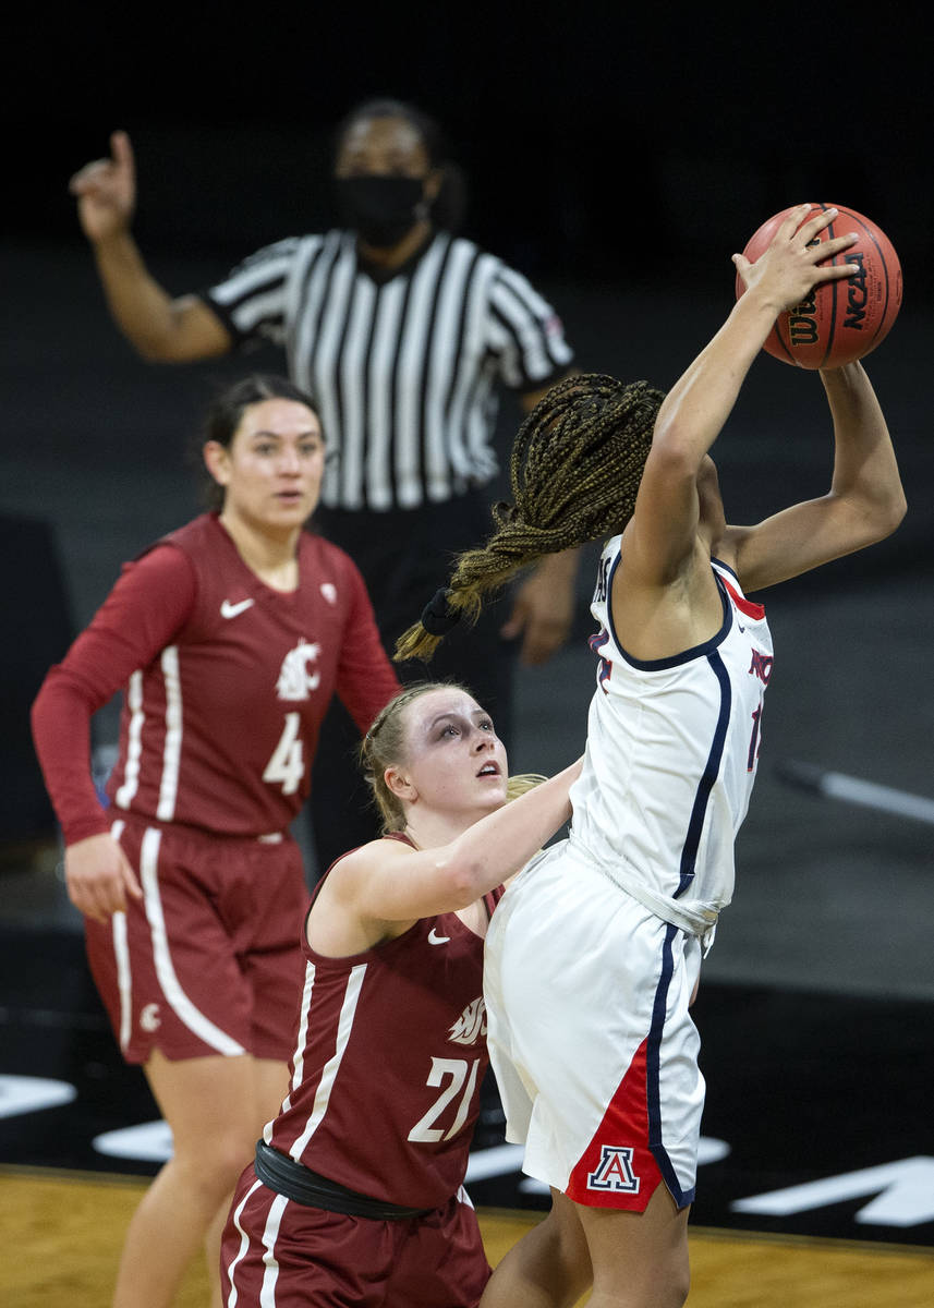
<svg viewBox="0 0 934 1308">
<path fill-rule="evenodd" d="M 474 1308 L 488 1278 L 463 1186 L 426 1216 L 382 1222 L 297 1203 L 250 1164 L 221 1244 L 221 1300 L 238 1308 Z"/>
</svg>

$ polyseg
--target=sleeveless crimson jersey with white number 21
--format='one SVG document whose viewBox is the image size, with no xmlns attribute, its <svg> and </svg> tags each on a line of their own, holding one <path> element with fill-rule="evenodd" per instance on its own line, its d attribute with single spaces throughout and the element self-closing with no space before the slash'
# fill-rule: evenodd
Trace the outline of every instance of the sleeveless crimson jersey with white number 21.
<svg viewBox="0 0 934 1308">
<path fill-rule="evenodd" d="M 488 912 L 498 896 L 485 896 Z M 289 1092 L 266 1143 L 390 1203 L 432 1209 L 457 1194 L 488 1063 L 483 948 L 457 913 L 343 959 L 303 937 Z"/>
</svg>

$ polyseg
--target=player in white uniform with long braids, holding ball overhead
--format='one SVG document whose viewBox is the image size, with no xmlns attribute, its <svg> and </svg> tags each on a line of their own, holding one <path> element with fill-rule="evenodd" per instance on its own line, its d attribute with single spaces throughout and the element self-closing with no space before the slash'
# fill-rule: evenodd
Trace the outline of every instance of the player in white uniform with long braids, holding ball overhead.
<svg viewBox="0 0 934 1308">
<path fill-rule="evenodd" d="M 688 1291 L 704 1079 L 688 1014 L 733 893 L 733 846 L 759 757 L 776 582 L 861 549 L 905 511 L 884 417 L 862 366 L 820 374 L 835 466 L 820 498 L 727 526 L 709 456 L 776 317 L 854 235 L 810 242 L 836 211 L 793 211 L 746 293 L 667 396 L 644 382 L 556 386 L 513 451 L 513 506 L 462 555 L 407 633 L 430 653 L 543 551 L 607 540 L 593 612 L 599 657 L 566 841 L 517 878 L 487 939 L 491 1058 L 508 1138 L 553 1206 L 497 1267 L 484 1308 L 679 1308 Z"/>
</svg>

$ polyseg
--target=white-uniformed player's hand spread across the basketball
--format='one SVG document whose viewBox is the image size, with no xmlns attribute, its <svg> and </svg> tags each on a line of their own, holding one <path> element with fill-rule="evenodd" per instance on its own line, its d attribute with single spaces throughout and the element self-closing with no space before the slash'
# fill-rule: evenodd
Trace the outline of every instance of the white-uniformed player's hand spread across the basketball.
<svg viewBox="0 0 934 1308">
<path fill-rule="evenodd" d="M 825 263 L 858 241 L 857 233 L 848 232 L 842 237 L 818 241 L 818 233 L 833 222 L 837 211 L 824 209 L 804 222 L 810 208 L 810 204 L 799 204 L 791 209 L 772 243 L 755 263 L 750 263 L 742 254 L 733 255 L 736 272 L 743 279 L 747 292 L 756 292 L 774 303 L 776 317 L 799 305 L 819 283 L 849 277 L 858 272 L 853 263 Z"/>
</svg>

